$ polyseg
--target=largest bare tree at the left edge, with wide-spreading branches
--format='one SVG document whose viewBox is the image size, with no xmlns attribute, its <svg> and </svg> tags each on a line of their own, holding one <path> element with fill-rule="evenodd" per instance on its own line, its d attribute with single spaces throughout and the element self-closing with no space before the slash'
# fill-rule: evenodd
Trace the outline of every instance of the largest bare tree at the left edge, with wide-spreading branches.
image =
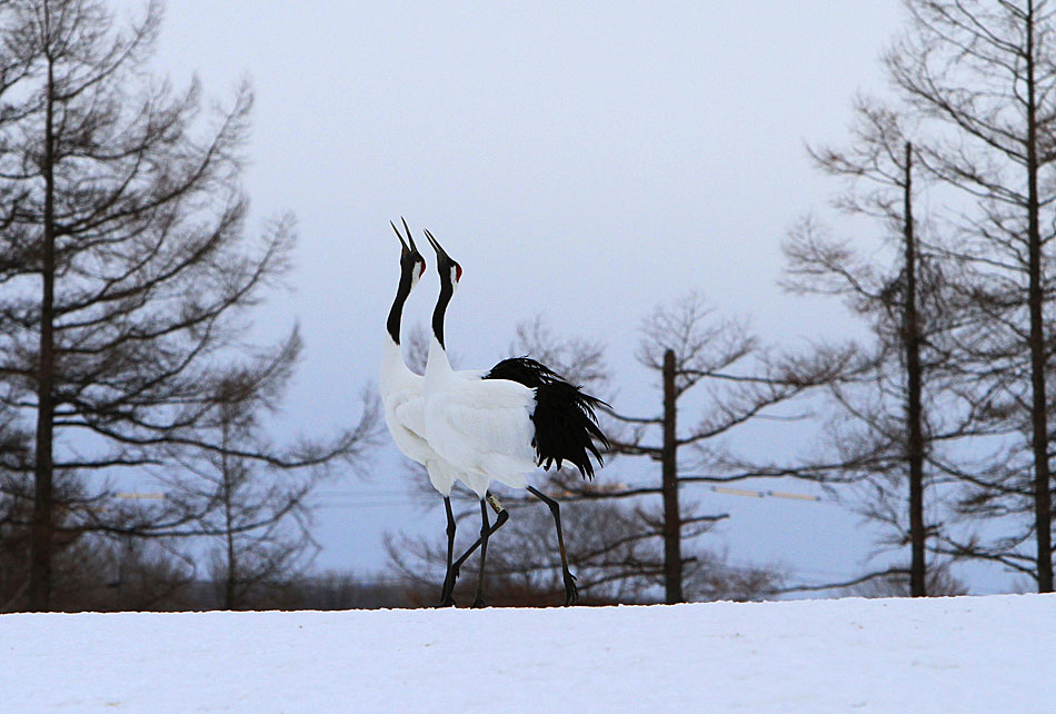
<svg viewBox="0 0 1056 714">
<path fill-rule="evenodd" d="M 246 310 L 293 245 L 289 217 L 256 239 L 243 228 L 249 88 L 203 116 L 197 81 L 176 92 L 150 79 L 160 21 L 155 0 L 126 26 L 102 0 L 0 7 L 0 46 L 17 58 L 0 126 L 0 397 L 34 425 L 33 609 L 50 606 L 60 530 L 150 529 L 101 509 L 107 478 L 181 448 L 222 452 L 203 424 L 209 375 L 242 349 Z M 63 474 L 83 502 L 58 498 Z"/>
</svg>

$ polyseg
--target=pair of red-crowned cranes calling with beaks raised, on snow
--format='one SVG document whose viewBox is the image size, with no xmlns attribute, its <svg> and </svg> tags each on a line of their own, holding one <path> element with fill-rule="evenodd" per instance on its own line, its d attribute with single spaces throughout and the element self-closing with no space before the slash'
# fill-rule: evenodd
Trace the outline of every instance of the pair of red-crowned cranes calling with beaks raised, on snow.
<svg viewBox="0 0 1056 714">
<path fill-rule="evenodd" d="M 440 605 L 454 605 L 459 568 L 478 547 L 480 569 L 475 607 L 484 606 L 482 585 L 488 538 L 509 518 L 489 488 L 499 482 L 525 488 L 542 500 L 554 516 L 565 604 L 578 598 L 576 577 L 568 569 L 565 537 L 558 503 L 528 484 L 526 474 L 541 466 L 574 464 L 584 478 L 594 476 L 592 455 L 601 464 L 595 445 L 608 447 L 598 426 L 595 408 L 605 403 L 584 394 L 545 365 L 528 357 L 504 359 L 490 370 L 455 371 L 444 341 L 444 318 L 462 277 L 461 266 L 440 247 L 428 230 L 426 238 L 437 254 L 440 294 L 432 313 L 432 339 L 426 374 L 411 371 L 400 353 L 400 320 L 407 297 L 426 271 L 426 260 L 415 246 L 404 221 L 405 236 L 392 224 L 400 240 L 400 281 L 386 323 L 381 359 L 381 400 L 385 419 L 397 447 L 422 464 L 429 480 L 441 496 L 447 512 L 447 573 Z M 454 558 L 455 515 L 451 488 L 456 482 L 468 486 L 480 499 L 480 537 L 459 558 Z M 496 512 L 489 523 L 488 505 Z"/>
</svg>

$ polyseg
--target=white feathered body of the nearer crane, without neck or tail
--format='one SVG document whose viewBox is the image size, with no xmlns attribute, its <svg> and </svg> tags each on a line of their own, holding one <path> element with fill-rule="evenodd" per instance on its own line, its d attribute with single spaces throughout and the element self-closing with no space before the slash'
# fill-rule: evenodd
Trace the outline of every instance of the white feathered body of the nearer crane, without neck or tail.
<svg viewBox="0 0 1056 714">
<path fill-rule="evenodd" d="M 507 379 L 467 379 L 451 369 L 435 336 L 424 384 L 424 399 L 405 410 L 414 420 L 419 415 L 411 413 L 421 406 L 429 447 L 457 469 L 458 478 L 480 498 L 494 480 L 527 487 L 526 474 L 536 469 L 534 391 Z"/>
</svg>

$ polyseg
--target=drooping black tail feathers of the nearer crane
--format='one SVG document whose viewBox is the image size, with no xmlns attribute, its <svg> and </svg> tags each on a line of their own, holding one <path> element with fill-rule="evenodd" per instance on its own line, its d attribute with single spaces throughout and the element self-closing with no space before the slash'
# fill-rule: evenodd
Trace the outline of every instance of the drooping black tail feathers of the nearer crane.
<svg viewBox="0 0 1056 714">
<path fill-rule="evenodd" d="M 595 440 L 604 448 L 609 442 L 598 426 L 595 409 L 608 406 L 597 397 L 584 394 L 549 367 L 529 357 L 504 359 L 491 368 L 485 379 L 510 379 L 535 389 L 536 409 L 531 420 L 536 436 L 536 463 L 545 469 L 564 462 L 574 464 L 584 478 L 594 478 L 590 454 L 600 466 L 604 462 Z M 588 454 L 589 452 L 589 454 Z"/>
</svg>

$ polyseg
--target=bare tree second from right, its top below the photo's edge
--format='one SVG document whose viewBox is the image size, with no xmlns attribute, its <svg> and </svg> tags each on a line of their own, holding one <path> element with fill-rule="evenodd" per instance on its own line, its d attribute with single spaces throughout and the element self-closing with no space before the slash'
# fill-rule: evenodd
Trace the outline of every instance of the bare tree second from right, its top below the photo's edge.
<svg viewBox="0 0 1056 714">
<path fill-rule="evenodd" d="M 867 99 L 856 102 L 855 120 L 848 148 L 813 149 L 811 156 L 848 181 L 836 206 L 877 219 L 883 239 L 868 248 L 860 238 L 834 240 L 807 219 L 785 245 L 785 286 L 843 297 L 873 329 L 874 344 L 854 377 L 830 385 L 839 413 L 829 433 L 835 460 L 846 464 L 844 479 L 868 485 L 863 513 L 891 528 L 890 545 L 909 545 L 908 592 L 923 596 L 929 538 L 935 545 L 942 527 L 926 522 L 925 494 L 936 479 L 954 477 L 950 452 L 986 432 L 972 408 L 982 391 L 958 349 L 966 318 L 945 275 L 945 251 L 921 242 L 913 217 L 914 148 L 903 121 Z"/>
</svg>

